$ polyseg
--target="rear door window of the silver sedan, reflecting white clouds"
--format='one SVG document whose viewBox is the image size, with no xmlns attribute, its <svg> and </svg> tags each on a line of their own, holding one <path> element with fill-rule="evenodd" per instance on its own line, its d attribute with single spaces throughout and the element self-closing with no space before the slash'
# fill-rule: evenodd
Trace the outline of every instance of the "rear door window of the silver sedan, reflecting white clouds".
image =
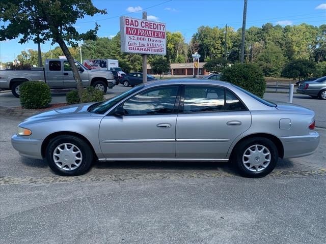
<svg viewBox="0 0 326 244">
<path fill-rule="evenodd" d="M 185 86 L 183 112 L 224 110 L 224 88 L 214 86 Z"/>
</svg>

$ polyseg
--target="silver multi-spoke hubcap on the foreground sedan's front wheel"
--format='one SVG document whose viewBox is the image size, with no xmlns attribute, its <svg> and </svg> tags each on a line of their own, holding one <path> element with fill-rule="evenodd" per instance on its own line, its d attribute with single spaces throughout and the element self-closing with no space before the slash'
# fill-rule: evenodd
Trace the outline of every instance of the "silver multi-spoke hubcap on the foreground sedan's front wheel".
<svg viewBox="0 0 326 244">
<path fill-rule="evenodd" d="M 74 144 L 63 143 L 53 151 L 53 160 L 60 169 L 70 171 L 80 166 L 83 156 Z"/>
</svg>

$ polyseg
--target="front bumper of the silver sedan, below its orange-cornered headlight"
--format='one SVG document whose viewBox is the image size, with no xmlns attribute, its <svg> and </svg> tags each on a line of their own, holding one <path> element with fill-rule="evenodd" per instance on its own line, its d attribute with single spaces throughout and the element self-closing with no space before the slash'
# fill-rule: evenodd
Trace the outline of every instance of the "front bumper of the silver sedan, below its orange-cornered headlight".
<svg viewBox="0 0 326 244">
<path fill-rule="evenodd" d="M 19 155 L 32 159 L 42 159 L 42 142 L 43 140 L 30 139 L 26 136 L 13 135 L 11 138 L 11 144 Z"/>
</svg>

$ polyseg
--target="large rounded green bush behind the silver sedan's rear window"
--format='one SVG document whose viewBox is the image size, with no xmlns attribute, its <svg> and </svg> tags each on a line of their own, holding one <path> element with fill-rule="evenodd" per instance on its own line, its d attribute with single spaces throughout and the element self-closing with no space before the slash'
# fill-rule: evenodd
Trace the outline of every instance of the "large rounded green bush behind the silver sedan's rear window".
<svg viewBox="0 0 326 244">
<path fill-rule="evenodd" d="M 256 64 L 235 64 L 227 67 L 221 80 L 242 87 L 259 97 L 264 96 L 266 83 L 262 70 Z"/>
</svg>

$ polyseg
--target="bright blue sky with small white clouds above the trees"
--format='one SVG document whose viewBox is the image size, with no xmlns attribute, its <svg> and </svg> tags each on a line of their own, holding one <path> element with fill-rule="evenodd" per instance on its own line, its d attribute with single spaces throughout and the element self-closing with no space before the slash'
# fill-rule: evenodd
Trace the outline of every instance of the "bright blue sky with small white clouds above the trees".
<svg viewBox="0 0 326 244">
<path fill-rule="evenodd" d="M 106 9 L 107 15 L 97 14 L 85 17 L 75 24 L 77 31 L 84 32 L 101 25 L 99 37 L 113 37 L 119 32 L 119 16 L 142 18 L 147 11 L 148 19 L 167 24 L 167 30 L 179 31 L 188 42 L 201 25 L 223 27 L 225 24 L 240 28 L 242 25 L 243 0 L 239 1 L 104 1 L 95 0 L 94 5 Z M 258 1 L 248 0 L 247 28 L 261 26 L 266 22 L 273 24 L 308 23 L 319 26 L 326 24 L 326 1 Z M 3 22 L 1 23 L 3 24 Z M 19 44 L 18 39 L 0 43 L 0 60 L 8 62 L 22 50 L 37 49 L 33 42 Z M 46 52 L 50 43 L 41 45 Z M 53 46 L 52 46 L 53 48 Z"/>
</svg>

